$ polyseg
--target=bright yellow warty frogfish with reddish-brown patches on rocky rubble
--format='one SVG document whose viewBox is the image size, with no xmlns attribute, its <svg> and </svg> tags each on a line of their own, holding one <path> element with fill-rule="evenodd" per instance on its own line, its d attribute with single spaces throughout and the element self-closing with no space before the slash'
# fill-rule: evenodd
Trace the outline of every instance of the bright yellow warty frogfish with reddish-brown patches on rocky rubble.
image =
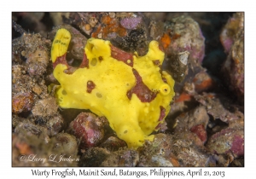
<svg viewBox="0 0 256 179">
<path fill-rule="evenodd" d="M 170 111 L 174 80 L 161 70 L 164 52 L 151 41 L 148 53 L 128 53 L 109 41 L 90 38 L 84 47 L 84 58 L 78 68 L 66 61 L 71 40 L 67 29 L 56 32 L 51 59 L 54 76 L 61 84 L 55 90 L 63 108 L 90 109 L 108 118 L 110 127 L 128 147 L 153 141 L 153 131 Z"/>
</svg>

